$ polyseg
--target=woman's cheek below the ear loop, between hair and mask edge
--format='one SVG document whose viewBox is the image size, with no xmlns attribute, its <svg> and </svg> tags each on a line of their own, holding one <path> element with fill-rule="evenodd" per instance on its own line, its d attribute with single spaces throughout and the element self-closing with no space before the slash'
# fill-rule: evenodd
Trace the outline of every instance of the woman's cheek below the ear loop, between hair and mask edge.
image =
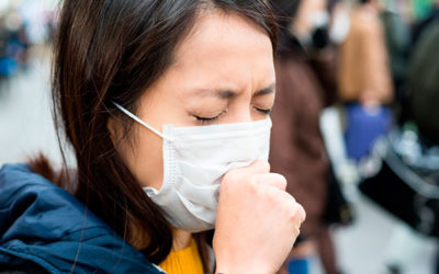
<svg viewBox="0 0 439 274">
<path fill-rule="evenodd" d="M 142 187 L 160 190 L 164 181 L 162 140 L 146 128 L 123 151 L 124 161 Z"/>
</svg>

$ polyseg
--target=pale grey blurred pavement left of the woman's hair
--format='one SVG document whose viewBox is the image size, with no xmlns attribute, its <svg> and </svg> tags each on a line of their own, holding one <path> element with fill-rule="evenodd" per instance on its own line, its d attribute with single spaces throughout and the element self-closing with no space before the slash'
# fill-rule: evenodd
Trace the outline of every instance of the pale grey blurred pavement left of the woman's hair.
<svg viewBox="0 0 439 274">
<path fill-rule="evenodd" d="M 48 61 L 2 83 L 0 90 L 0 164 L 23 161 L 44 151 L 59 161 L 52 122 Z"/>
</svg>

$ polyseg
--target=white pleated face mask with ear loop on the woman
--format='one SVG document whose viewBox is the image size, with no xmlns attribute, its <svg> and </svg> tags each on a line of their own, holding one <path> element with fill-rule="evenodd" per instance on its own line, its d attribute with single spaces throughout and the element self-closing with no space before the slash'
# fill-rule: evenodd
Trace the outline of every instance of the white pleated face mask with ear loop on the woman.
<svg viewBox="0 0 439 274">
<path fill-rule="evenodd" d="M 144 187 L 176 228 L 200 232 L 215 227 L 219 184 L 228 171 L 268 160 L 271 119 L 210 126 L 153 128 L 121 105 L 117 109 L 164 139 L 164 184 Z"/>
</svg>

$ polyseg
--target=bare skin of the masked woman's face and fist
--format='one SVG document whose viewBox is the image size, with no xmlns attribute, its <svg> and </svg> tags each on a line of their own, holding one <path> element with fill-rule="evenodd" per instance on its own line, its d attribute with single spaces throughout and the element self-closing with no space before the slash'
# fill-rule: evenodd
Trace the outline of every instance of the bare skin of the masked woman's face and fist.
<svg viewBox="0 0 439 274">
<path fill-rule="evenodd" d="M 273 105 L 274 85 L 273 52 L 268 34 L 239 15 L 206 10 L 177 47 L 173 64 L 145 91 L 136 115 L 159 132 L 165 124 L 184 127 L 259 121 L 268 117 Z M 116 139 L 120 130 L 115 121 L 109 122 L 109 129 Z M 159 190 L 164 173 L 162 139 L 137 123 L 133 134 L 134 142 L 122 142 L 117 150 L 142 186 Z M 269 170 L 268 162 L 257 161 L 223 180 L 214 240 L 218 271 L 240 273 L 239 264 L 258 261 L 252 253 L 240 250 L 267 246 L 263 249 L 267 252 L 259 254 L 264 264 L 254 264 L 255 271 L 247 273 L 273 273 L 291 250 L 305 214 L 284 192 L 285 179 Z M 251 195 L 254 192 L 257 194 Z M 259 210 L 254 213 L 255 208 Z M 236 213 L 230 215 L 232 210 Z M 272 216 L 264 218 L 270 213 Z M 266 225 L 259 226 L 263 219 Z M 241 240 L 243 231 L 255 227 L 260 229 L 250 239 L 255 249 L 249 249 L 248 242 Z M 261 241 L 267 235 L 279 236 L 274 238 L 279 242 Z M 173 250 L 189 246 L 190 232 L 175 228 L 173 236 Z M 273 259 L 268 262 L 269 256 Z M 243 266 L 241 271 L 248 269 Z"/>
</svg>

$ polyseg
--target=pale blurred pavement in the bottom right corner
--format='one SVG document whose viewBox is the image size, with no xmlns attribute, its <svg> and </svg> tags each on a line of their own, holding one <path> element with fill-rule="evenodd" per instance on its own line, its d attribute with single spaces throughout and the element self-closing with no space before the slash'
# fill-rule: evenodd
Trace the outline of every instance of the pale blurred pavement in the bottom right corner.
<svg viewBox="0 0 439 274">
<path fill-rule="evenodd" d="M 361 195 L 350 196 L 357 221 L 335 232 L 346 273 L 384 274 L 385 264 L 397 263 L 405 274 L 435 274 L 437 241 L 416 235 Z"/>
</svg>

